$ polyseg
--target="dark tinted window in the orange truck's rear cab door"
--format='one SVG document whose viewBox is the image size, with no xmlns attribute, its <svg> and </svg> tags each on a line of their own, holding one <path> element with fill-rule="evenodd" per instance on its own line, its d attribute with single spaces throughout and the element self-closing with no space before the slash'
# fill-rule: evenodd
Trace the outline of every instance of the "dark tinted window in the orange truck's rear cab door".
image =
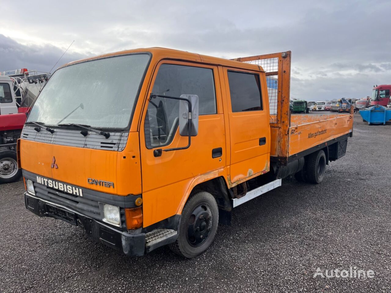
<svg viewBox="0 0 391 293">
<path fill-rule="evenodd" d="M 232 112 L 262 110 L 259 75 L 228 71 Z"/>
</svg>

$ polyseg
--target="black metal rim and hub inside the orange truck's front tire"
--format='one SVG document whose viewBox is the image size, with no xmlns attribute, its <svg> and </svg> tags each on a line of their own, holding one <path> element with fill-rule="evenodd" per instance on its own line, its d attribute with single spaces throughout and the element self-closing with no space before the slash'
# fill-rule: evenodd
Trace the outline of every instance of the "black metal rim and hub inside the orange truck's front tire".
<svg viewBox="0 0 391 293">
<path fill-rule="evenodd" d="M 197 247 L 204 243 L 212 230 L 212 211 L 206 204 L 200 204 L 192 211 L 187 222 L 187 239 Z"/>
</svg>

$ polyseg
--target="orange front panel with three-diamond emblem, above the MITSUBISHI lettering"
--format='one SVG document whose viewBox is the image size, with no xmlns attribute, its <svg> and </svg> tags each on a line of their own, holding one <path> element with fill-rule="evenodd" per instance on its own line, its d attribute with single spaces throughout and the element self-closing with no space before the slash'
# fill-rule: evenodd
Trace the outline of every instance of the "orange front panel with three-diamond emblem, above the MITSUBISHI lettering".
<svg viewBox="0 0 391 293">
<path fill-rule="evenodd" d="M 110 194 L 141 193 L 138 133 L 129 134 L 128 144 L 122 152 L 52 145 L 25 139 L 21 139 L 20 145 L 22 169 L 29 172 Z M 58 168 L 51 168 L 53 157 L 56 158 Z M 88 184 L 88 178 L 114 182 L 114 188 Z"/>
</svg>

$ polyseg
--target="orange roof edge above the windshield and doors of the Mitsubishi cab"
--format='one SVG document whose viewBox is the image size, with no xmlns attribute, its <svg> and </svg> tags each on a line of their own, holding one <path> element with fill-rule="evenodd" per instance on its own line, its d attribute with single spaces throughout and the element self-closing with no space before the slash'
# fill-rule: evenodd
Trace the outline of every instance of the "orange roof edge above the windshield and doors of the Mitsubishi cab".
<svg viewBox="0 0 391 293">
<path fill-rule="evenodd" d="M 64 66 L 71 65 L 71 64 L 79 63 L 79 62 L 88 61 L 88 60 L 116 56 L 116 55 L 138 53 L 138 52 L 149 52 L 152 54 L 152 59 L 155 59 L 155 60 L 176 59 L 176 60 L 208 63 L 208 64 L 213 64 L 213 65 L 221 65 L 221 66 L 227 66 L 227 67 L 242 68 L 242 69 L 264 72 L 264 70 L 262 69 L 261 66 L 258 66 L 255 64 L 233 61 L 233 60 L 229 60 L 229 59 L 223 59 L 223 58 L 212 57 L 212 56 L 207 56 L 207 55 L 200 55 L 200 54 L 196 54 L 196 53 L 190 53 L 190 52 L 185 52 L 185 51 L 180 51 L 180 50 L 175 50 L 175 49 L 160 48 L 160 47 L 139 48 L 139 49 L 124 50 L 124 51 L 119 51 L 119 52 L 114 52 L 114 53 L 103 54 L 103 55 L 99 55 L 99 56 L 95 56 L 95 57 L 89 57 L 89 58 L 80 59 L 77 61 L 72 61 L 70 63 L 64 64 L 60 68 L 62 68 Z"/>
</svg>

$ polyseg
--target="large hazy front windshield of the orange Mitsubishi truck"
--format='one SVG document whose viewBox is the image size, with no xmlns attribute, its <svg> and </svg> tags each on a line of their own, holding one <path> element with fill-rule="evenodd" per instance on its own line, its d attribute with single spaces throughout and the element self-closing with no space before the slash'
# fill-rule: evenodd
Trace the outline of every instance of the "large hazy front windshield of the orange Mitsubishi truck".
<svg viewBox="0 0 391 293">
<path fill-rule="evenodd" d="M 145 53 L 123 55 L 57 70 L 42 89 L 27 122 L 127 127 L 149 58 Z"/>
</svg>

